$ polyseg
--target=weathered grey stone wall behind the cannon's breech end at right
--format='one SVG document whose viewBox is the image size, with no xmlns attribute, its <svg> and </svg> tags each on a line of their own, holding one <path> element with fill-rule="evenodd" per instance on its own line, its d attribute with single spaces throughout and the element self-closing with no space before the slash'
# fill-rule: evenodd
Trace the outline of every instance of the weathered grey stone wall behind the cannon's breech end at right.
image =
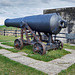
<svg viewBox="0 0 75 75">
<path fill-rule="evenodd" d="M 68 21 L 68 27 L 61 30 L 60 33 L 73 33 L 75 34 L 75 7 L 47 9 L 43 14 L 59 13 L 62 18 Z M 58 34 L 59 36 L 66 37 L 65 34 Z M 75 43 L 75 40 L 67 40 L 66 38 L 59 38 L 61 41 Z"/>
</svg>

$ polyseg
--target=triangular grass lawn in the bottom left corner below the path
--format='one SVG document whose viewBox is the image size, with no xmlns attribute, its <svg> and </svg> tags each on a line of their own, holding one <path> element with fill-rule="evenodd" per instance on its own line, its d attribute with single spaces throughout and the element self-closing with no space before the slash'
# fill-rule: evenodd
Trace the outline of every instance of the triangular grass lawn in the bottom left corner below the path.
<svg viewBox="0 0 75 75">
<path fill-rule="evenodd" d="M 0 55 L 0 75 L 47 75 Z"/>
</svg>

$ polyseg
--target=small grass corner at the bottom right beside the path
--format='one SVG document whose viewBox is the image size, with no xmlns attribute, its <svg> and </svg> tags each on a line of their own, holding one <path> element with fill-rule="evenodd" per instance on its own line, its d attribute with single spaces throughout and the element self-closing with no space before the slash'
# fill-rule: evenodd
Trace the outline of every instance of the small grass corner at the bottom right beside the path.
<svg viewBox="0 0 75 75">
<path fill-rule="evenodd" d="M 62 70 L 58 75 L 75 75 L 75 64 L 66 70 Z"/>
</svg>

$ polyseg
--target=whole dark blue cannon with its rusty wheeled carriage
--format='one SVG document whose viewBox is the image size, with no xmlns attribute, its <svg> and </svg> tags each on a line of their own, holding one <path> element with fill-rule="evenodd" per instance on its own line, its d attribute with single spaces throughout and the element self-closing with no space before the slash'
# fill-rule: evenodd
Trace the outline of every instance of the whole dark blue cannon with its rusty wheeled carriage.
<svg viewBox="0 0 75 75">
<path fill-rule="evenodd" d="M 56 35 L 67 27 L 67 22 L 57 13 L 6 19 L 5 25 L 21 28 L 21 38 L 14 41 L 14 47 L 18 50 L 33 45 L 34 53 L 44 55 L 47 50 L 63 48 L 63 43 L 56 39 Z M 26 39 L 23 38 L 24 33 Z"/>
</svg>

